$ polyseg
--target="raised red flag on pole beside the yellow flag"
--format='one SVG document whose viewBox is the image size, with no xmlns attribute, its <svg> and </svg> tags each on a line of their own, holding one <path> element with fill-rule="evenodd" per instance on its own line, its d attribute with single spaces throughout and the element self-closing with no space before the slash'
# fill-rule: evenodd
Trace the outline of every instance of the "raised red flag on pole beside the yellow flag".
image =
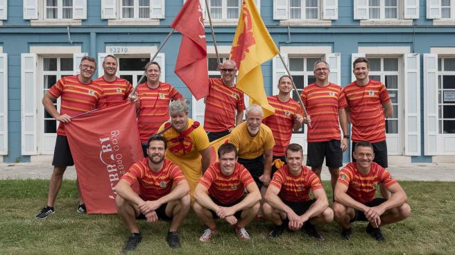
<svg viewBox="0 0 455 255">
<path fill-rule="evenodd" d="M 207 44 L 200 1 L 187 0 L 171 27 L 182 33 L 175 74 L 187 85 L 196 100 L 199 100 L 209 94 Z"/>
</svg>

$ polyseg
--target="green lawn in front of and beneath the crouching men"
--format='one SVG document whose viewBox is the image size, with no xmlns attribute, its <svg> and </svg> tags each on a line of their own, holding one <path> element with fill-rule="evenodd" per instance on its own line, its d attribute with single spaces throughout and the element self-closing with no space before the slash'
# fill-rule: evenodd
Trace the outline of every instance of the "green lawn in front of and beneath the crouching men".
<svg viewBox="0 0 455 255">
<path fill-rule="evenodd" d="M 76 213 L 74 181 L 64 181 L 55 214 L 35 220 L 47 197 L 47 180 L 0 181 L 0 254 L 119 254 L 128 230 L 117 215 Z M 198 238 L 205 227 L 190 213 L 179 231 L 182 248 L 171 250 L 164 238 L 168 224 L 139 222 L 141 244 L 131 254 L 455 254 L 454 182 L 400 182 L 408 194 L 412 215 L 382 227 L 386 242 L 365 233 L 366 224 L 353 225 L 350 240 L 341 240 L 334 222 L 318 227 L 325 242 L 301 232 L 267 238 L 271 224 L 247 227 L 252 240 L 241 242 L 232 227 L 218 221 L 218 234 L 209 243 Z M 329 187 L 328 182 L 324 182 Z M 331 197 L 332 191 L 326 188 Z M 331 200 L 331 198 L 329 198 Z"/>
</svg>

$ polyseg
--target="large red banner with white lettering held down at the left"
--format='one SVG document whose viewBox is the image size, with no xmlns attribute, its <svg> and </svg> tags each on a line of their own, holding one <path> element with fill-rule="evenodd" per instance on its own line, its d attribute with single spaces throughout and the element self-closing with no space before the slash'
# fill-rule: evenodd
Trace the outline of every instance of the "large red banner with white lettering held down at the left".
<svg viewBox="0 0 455 255">
<path fill-rule="evenodd" d="M 117 213 L 114 187 L 144 158 L 135 105 L 126 102 L 72 118 L 65 130 L 87 213 Z"/>
</svg>

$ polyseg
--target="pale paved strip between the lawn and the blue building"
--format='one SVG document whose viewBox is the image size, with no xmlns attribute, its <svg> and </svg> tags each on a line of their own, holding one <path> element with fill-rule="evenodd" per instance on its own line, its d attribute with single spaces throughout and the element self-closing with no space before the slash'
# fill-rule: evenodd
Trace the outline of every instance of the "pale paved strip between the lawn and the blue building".
<svg viewBox="0 0 455 255">
<path fill-rule="evenodd" d="M 49 179 L 53 167 L 49 162 L 6 164 L 0 163 L 0 179 Z M 388 170 L 395 179 L 406 181 L 455 182 L 455 164 L 422 163 L 393 164 Z M 64 179 L 76 179 L 74 166 L 68 167 Z M 329 179 L 329 170 L 323 168 L 323 179 Z"/>
</svg>

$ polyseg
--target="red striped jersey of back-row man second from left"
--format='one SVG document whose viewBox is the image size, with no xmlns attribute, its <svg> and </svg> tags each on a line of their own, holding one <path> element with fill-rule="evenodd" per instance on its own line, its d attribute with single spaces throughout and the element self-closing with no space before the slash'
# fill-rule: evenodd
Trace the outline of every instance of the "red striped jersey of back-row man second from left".
<svg viewBox="0 0 455 255">
<path fill-rule="evenodd" d="M 132 91 L 132 85 L 128 80 L 116 77 L 114 81 L 108 82 L 101 76 L 94 80 L 100 85 L 105 94 L 106 106 L 117 105 L 128 98 Z"/>
</svg>

